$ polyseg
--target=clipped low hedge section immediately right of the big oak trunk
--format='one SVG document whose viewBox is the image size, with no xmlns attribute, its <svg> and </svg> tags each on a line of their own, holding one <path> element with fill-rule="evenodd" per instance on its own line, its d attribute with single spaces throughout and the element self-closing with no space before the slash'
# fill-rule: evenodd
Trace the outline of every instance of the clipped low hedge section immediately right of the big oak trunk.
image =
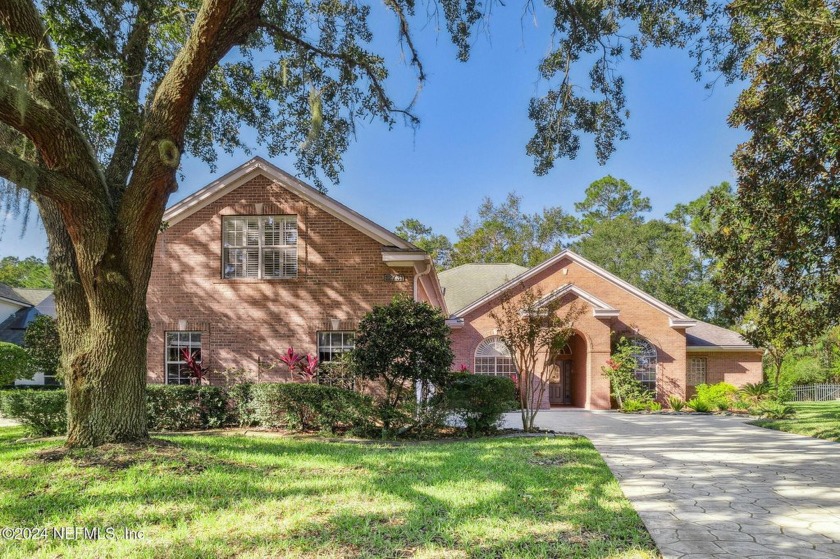
<svg viewBox="0 0 840 559">
<path fill-rule="evenodd" d="M 221 427 L 228 421 L 227 395 L 218 386 L 150 384 L 146 413 L 152 431 Z"/>
</svg>

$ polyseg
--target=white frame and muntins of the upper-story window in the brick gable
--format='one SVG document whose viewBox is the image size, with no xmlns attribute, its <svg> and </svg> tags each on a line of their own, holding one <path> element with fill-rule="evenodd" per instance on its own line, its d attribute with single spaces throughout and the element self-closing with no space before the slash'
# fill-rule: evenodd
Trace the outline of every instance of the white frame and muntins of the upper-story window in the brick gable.
<svg viewBox="0 0 840 559">
<path fill-rule="evenodd" d="M 272 221 L 279 222 L 279 239 L 277 243 L 268 244 L 266 239 L 266 225 Z M 241 222 L 243 230 L 242 243 L 231 242 L 236 232 L 229 233 L 237 222 Z M 292 225 L 292 227 L 288 227 Z M 251 229 L 251 226 L 256 226 Z M 256 235 L 256 242 L 252 242 Z M 256 252 L 256 274 L 250 273 L 248 252 Z M 237 262 L 232 254 L 240 253 L 244 262 Z M 244 253 L 244 254 L 242 254 Z M 267 275 L 266 256 L 277 253 L 279 256 L 279 274 Z M 241 266 L 241 273 L 237 268 Z M 226 215 L 222 216 L 222 278 L 224 279 L 288 279 L 298 275 L 298 227 L 296 215 Z"/>
</svg>

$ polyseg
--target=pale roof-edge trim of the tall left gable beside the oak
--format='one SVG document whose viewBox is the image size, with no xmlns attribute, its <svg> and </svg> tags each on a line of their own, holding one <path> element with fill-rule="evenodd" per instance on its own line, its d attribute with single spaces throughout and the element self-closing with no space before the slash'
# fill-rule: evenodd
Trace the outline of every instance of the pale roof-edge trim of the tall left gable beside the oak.
<svg viewBox="0 0 840 559">
<path fill-rule="evenodd" d="M 262 157 L 255 157 L 247 163 L 240 165 L 223 177 L 215 180 L 190 194 L 180 202 L 170 206 L 163 214 L 163 220 L 174 225 L 179 221 L 194 214 L 201 208 L 214 202 L 222 196 L 234 191 L 237 187 L 245 184 L 252 178 L 263 175 L 287 188 L 294 194 L 318 206 L 329 214 L 332 214 L 351 227 L 361 231 L 383 246 L 392 246 L 411 252 L 422 252 L 419 248 L 388 231 L 381 225 L 377 225 L 360 213 L 351 210 L 341 202 L 334 200 L 305 182 L 293 177 L 276 165 L 266 161 Z"/>
</svg>

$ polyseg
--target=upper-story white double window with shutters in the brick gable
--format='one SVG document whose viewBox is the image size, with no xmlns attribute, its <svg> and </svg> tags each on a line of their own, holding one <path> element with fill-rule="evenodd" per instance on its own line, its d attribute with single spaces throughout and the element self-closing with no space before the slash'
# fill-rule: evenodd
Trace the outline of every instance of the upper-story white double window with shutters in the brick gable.
<svg viewBox="0 0 840 559">
<path fill-rule="evenodd" d="M 297 277 L 297 217 L 293 215 L 222 218 L 222 276 Z"/>
</svg>

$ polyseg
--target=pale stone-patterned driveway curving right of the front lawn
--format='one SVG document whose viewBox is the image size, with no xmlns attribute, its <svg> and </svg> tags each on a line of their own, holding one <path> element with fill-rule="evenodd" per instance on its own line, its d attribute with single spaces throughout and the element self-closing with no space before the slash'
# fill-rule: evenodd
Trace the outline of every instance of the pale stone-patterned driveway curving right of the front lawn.
<svg viewBox="0 0 840 559">
<path fill-rule="evenodd" d="M 537 423 L 592 440 L 666 559 L 840 557 L 840 444 L 736 417 L 547 411 Z"/>
</svg>

